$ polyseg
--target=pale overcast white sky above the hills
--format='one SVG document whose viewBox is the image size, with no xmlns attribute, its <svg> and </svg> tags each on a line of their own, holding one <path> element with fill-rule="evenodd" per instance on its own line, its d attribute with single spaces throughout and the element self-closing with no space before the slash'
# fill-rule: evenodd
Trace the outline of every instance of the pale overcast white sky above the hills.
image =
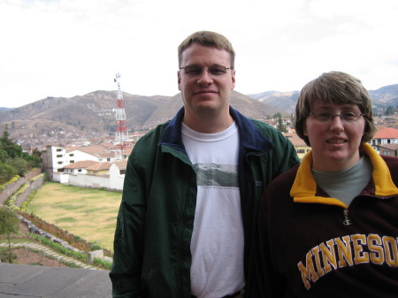
<svg viewBox="0 0 398 298">
<path fill-rule="evenodd" d="M 0 0 L 0 107 L 120 88 L 174 96 L 177 48 L 216 31 L 236 52 L 235 90 L 300 90 L 341 71 L 398 84 L 396 0 Z M 115 95 L 116 96 L 116 95 Z"/>
</svg>

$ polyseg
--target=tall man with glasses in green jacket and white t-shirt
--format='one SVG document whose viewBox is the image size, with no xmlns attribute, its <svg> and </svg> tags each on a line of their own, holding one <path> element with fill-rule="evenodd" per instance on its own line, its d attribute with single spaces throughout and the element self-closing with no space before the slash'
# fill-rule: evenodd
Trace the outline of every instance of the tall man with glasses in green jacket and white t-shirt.
<svg viewBox="0 0 398 298">
<path fill-rule="evenodd" d="M 234 56 L 226 37 L 213 32 L 180 44 L 184 107 L 143 136 L 127 164 L 113 297 L 250 292 L 259 198 L 298 158 L 278 131 L 230 107 Z"/>
</svg>

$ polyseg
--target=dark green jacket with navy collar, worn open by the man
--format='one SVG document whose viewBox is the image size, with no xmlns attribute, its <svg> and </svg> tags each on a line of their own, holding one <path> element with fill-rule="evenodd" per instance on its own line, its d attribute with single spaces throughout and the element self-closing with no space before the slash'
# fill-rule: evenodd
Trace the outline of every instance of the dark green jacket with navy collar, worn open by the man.
<svg viewBox="0 0 398 298">
<path fill-rule="evenodd" d="M 233 108 L 230 113 L 240 137 L 238 172 L 249 296 L 260 197 L 274 177 L 299 159 L 292 143 L 272 126 Z M 197 187 L 181 141 L 183 115 L 184 108 L 144 135 L 128 159 L 110 272 L 113 297 L 191 297 L 190 243 Z"/>
</svg>

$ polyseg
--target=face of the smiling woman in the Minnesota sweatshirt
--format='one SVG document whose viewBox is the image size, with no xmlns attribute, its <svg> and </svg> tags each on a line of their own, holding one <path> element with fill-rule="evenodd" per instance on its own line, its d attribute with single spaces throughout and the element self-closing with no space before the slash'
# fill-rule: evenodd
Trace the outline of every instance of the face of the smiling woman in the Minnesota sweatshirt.
<svg viewBox="0 0 398 298">
<path fill-rule="evenodd" d="M 311 107 L 311 114 L 341 115 L 347 112 L 361 114 L 355 104 L 337 105 L 317 100 Z M 346 121 L 339 116 L 321 121 L 317 116 L 310 115 L 305 121 L 304 134 L 308 136 L 312 148 L 312 168 L 320 172 L 340 172 L 359 162 L 364 129 L 364 116 L 355 121 Z"/>
</svg>

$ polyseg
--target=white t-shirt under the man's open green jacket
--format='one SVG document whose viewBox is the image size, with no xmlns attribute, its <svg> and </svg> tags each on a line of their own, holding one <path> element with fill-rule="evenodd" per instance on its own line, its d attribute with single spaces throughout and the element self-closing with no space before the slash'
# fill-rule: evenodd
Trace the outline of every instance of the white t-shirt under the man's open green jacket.
<svg viewBox="0 0 398 298">
<path fill-rule="evenodd" d="M 192 294 L 223 297 L 245 285 L 238 128 L 233 123 L 224 132 L 202 134 L 183 124 L 182 141 L 198 186 L 191 241 Z"/>
</svg>

